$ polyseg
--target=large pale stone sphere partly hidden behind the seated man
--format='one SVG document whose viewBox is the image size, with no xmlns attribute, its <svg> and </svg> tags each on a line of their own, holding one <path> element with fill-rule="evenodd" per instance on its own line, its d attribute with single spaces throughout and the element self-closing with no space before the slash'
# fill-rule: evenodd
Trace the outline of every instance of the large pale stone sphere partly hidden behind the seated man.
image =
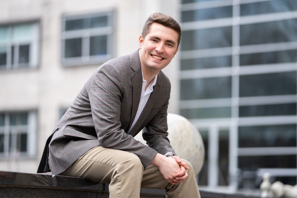
<svg viewBox="0 0 297 198">
<path fill-rule="evenodd" d="M 168 113 L 168 138 L 176 155 L 189 161 L 198 175 L 204 163 L 204 144 L 196 127 L 181 115 Z M 135 139 L 146 144 L 139 132 Z"/>
</svg>

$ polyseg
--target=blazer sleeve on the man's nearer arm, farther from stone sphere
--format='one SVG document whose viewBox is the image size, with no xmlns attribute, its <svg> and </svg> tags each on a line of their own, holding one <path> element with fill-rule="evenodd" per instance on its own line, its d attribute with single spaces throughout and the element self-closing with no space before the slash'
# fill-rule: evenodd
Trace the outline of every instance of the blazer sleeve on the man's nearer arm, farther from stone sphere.
<svg viewBox="0 0 297 198">
<path fill-rule="evenodd" d="M 121 129 L 121 89 L 123 83 L 114 66 L 104 65 L 94 76 L 89 90 L 92 117 L 100 145 L 137 155 L 146 168 L 157 154 Z"/>
</svg>

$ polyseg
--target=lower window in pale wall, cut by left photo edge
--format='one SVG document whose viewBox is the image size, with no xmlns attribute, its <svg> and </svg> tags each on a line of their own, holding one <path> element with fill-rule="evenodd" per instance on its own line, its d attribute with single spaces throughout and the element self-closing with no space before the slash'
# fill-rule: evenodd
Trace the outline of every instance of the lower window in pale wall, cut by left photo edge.
<svg viewBox="0 0 297 198">
<path fill-rule="evenodd" d="M 0 113 L 0 156 L 34 156 L 36 113 Z"/>
</svg>

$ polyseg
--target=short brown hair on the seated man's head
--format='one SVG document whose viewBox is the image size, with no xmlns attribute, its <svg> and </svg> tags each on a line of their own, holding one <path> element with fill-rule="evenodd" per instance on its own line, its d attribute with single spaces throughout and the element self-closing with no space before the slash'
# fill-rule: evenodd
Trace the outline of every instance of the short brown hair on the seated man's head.
<svg viewBox="0 0 297 198">
<path fill-rule="evenodd" d="M 159 23 L 176 31 L 178 33 L 177 46 L 179 45 L 179 43 L 181 42 L 181 26 L 179 26 L 176 20 L 174 20 L 172 17 L 162 14 L 160 12 L 152 14 L 146 20 L 146 23 L 144 24 L 141 33 L 143 39 L 146 37 L 147 34 L 149 34 L 151 24 L 153 23 Z"/>
</svg>

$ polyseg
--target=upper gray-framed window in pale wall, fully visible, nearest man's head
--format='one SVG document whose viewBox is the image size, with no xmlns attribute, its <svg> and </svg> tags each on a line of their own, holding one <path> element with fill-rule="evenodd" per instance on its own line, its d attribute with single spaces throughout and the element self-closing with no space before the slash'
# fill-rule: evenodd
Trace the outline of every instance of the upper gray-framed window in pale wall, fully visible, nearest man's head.
<svg viewBox="0 0 297 198">
<path fill-rule="evenodd" d="M 113 57 L 113 12 L 66 16 L 62 27 L 62 63 L 103 63 Z"/>
</svg>

